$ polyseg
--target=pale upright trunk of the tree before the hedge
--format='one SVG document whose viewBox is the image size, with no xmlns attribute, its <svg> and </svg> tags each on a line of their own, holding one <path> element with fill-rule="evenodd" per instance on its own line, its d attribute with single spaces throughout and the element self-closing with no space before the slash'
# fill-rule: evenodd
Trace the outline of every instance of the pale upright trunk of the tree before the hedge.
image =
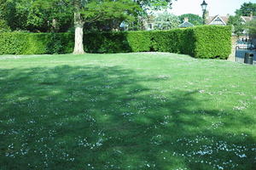
<svg viewBox="0 0 256 170">
<path fill-rule="evenodd" d="M 79 13 L 80 3 L 75 1 L 76 12 L 74 13 L 74 27 L 75 27 L 75 45 L 73 48 L 73 54 L 84 54 L 84 22 Z"/>
</svg>

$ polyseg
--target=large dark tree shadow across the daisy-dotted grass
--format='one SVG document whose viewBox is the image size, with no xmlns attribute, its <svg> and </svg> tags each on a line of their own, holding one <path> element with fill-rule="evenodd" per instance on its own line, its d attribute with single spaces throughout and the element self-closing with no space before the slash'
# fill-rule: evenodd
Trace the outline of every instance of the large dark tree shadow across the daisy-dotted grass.
<svg viewBox="0 0 256 170">
<path fill-rule="evenodd" d="M 2 169 L 253 169 L 242 114 L 121 67 L 1 70 Z M 143 86 L 148 83 L 148 87 Z"/>
</svg>

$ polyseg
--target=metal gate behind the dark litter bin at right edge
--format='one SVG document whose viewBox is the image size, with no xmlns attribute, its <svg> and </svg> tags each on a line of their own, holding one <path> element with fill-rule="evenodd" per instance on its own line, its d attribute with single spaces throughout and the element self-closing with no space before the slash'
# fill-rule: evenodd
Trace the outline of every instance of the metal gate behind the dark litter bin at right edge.
<svg viewBox="0 0 256 170">
<path fill-rule="evenodd" d="M 246 53 L 254 55 L 253 64 L 256 65 L 256 48 L 251 39 L 241 38 L 236 41 L 236 62 L 244 63 Z"/>
</svg>

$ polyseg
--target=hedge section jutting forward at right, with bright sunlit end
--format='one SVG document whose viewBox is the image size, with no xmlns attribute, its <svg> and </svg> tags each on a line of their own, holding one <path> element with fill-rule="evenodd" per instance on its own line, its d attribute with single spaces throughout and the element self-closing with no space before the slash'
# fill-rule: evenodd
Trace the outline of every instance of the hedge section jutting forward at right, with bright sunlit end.
<svg viewBox="0 0 256 170">
<path fill-rule="evenodd" d="M 153 31 L 151 37 L 154 51 L 189 54 L 202 59 L 227 59 L 231 53 L 230 26 Z"/>
</svg>

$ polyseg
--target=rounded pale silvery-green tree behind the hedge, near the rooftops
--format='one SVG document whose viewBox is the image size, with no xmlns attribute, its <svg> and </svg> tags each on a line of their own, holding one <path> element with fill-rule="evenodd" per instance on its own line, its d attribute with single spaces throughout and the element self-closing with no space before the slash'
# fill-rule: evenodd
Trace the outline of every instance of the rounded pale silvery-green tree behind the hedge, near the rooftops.
<svg viewBox="0 0 256 170">
<path fill-rule="evenodd" d="M 167 11 L 157 14 L 154 19 L 155 30 L 171 30 L 177 28 L 179 24 L 177 16 Z"/>
</svg>

